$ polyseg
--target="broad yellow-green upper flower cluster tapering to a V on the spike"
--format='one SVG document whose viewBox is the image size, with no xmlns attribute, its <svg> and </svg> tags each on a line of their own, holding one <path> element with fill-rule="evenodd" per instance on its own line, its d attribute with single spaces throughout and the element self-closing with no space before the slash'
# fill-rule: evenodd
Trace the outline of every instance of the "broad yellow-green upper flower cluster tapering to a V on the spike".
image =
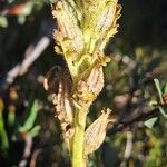
<svg viewBox="0 0 167 167">
<path fill-rule="evenodd" d="M 104 56 L 104 47 L 117 32 L 120 17 L 118 0 L 59 0 L 52 3 L 57 19 L 56 51 L 62 53 L 73 81 L 90 69 L 97 55 Z"/>
</svg>

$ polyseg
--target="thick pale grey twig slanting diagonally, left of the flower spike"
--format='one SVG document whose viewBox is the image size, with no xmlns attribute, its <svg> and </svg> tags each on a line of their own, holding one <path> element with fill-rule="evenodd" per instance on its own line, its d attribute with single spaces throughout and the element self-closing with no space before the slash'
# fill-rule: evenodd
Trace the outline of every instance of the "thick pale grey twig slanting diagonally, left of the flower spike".
<svg viewBox="0 0 167 167">
<path fill-rule="evenodd" d="M 32 42 L 24 51 L 23 60 L 21 63 L 16 65 L 0 82 L 0 94 L 3 94 L 9 85 L 11 85 L 18 76 L 22 76 L 28 71 L 28 68 L 41 56 L 43 50 L 52 41 L 52 30 L 55 23 L 50 19 L 43 19 L 41 21 L 40 30 L 36 39 L 36 43 Z"/>
</svg>

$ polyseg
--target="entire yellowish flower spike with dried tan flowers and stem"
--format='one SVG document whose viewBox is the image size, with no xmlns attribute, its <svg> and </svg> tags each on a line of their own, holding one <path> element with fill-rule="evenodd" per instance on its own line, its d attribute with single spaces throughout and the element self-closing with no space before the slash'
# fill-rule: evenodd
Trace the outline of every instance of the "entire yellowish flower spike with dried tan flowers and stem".
<svg viewBox="0 0 167 167">
<path fill-rule="evenodd" d="M 56 0 L 51 4 L 57 28 L 56 52 L 62 55 L 67 68 L 53 67 L 45 79 L 52 95 L 63 139 L 72 167 L 85 167 L 88 155 L 102 144 L 110 109 L 86 129 L 92 101 L 104 87 L 102 67 L 110 58 L 104 48 L 117 32 L 121 7 L 118 0 Z"/>
</svg>

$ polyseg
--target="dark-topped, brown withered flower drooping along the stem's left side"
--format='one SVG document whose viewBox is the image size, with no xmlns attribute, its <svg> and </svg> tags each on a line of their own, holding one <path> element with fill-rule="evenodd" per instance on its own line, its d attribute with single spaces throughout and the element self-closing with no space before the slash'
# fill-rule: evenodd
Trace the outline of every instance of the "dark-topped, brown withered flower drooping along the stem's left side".
<svg viewBox="0 0 167 167">
<path fill-rule="evenodd" d="M 62 69 L 60 66 L 52 67 L 45 78 L 43 86 L 51 92 L 56 115 L 60 120 L 62 135 L 67 141 L 72 136 L 71 125 L 73 121 L 72 82 L 68 69 Z"/>
</svg>

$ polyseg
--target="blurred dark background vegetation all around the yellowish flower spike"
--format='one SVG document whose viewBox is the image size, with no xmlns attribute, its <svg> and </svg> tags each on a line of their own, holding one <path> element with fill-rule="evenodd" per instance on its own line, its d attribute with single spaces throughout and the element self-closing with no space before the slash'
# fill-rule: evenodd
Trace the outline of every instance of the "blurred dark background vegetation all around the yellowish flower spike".
<svg viewBox="0 0 167 167">
<path fill-rule="evenodd" d="M 105 53 L 105 88 L 89 112 L 102 107 L 108 127 L 89 167 L 167 165 L 167 1 L 124 0 L 118 33 Z M 49 0 L 0 1 L 0 166 L 70 166 L 42 79 L 63 60 L 55 53 Z M 156 79 L 157 78 L 157 79 Z"/>
</svg>

